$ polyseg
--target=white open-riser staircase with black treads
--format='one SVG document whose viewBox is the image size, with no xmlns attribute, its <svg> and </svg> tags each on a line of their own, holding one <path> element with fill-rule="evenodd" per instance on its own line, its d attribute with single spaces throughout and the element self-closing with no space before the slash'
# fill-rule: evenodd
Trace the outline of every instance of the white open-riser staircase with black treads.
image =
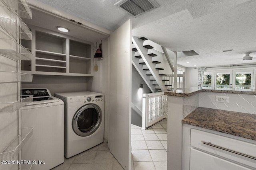
<svg viewBox="0 0 256 170">
<path fill-rule="evenodd" d="M 145 37 L 132 37 L 132 64 L 153 93 L 172 90 L 172 83 L 164 78 L 172 70 L 160 45 Z"/>
</svg>

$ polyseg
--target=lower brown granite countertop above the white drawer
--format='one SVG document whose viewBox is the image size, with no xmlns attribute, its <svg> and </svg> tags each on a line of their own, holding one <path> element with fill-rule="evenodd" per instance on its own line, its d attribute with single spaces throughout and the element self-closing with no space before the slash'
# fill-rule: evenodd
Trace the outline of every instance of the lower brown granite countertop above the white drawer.
<svg viewBox="0 0 256 170">
<path fill-rule="evenodd" d="M 182 123 L 256 141 L 256 115 L 198 107 Z"/>
</svg>

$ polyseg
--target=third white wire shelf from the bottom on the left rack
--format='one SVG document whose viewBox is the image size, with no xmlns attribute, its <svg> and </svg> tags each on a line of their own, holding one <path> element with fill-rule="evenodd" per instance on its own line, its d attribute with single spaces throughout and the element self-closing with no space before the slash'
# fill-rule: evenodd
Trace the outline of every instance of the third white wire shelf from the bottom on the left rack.
<svg viewBox="0 0 256 170">
<path fill-rule="evenodd" d="M 0 82 L 32 82 L 33 75 L 15 71 L 0 71 Z"/>
</svg>

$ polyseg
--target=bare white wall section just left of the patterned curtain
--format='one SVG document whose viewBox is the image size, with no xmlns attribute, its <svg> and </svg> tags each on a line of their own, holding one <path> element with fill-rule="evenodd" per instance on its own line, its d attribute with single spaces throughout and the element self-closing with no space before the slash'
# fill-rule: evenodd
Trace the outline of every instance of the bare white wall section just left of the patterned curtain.
<svg viewBox="0 0 256 170">
<path fill-rule="evenodd" d="M 186 68 L 185 87 L 198 87 L 198 69 Z"/>
</svg>

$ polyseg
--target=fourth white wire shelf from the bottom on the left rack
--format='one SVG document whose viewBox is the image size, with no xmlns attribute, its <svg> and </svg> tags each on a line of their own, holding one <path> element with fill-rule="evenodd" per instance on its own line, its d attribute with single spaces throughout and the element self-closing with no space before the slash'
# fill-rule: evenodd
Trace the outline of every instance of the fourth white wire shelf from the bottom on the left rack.
<svg viewBox="0 0 256 170">
<path fill-rule="evenodd" d="M 32 60 L 32 53 L 13 39 L 0 38 L 0 54 L 16 60 Z"/>
</svg>

